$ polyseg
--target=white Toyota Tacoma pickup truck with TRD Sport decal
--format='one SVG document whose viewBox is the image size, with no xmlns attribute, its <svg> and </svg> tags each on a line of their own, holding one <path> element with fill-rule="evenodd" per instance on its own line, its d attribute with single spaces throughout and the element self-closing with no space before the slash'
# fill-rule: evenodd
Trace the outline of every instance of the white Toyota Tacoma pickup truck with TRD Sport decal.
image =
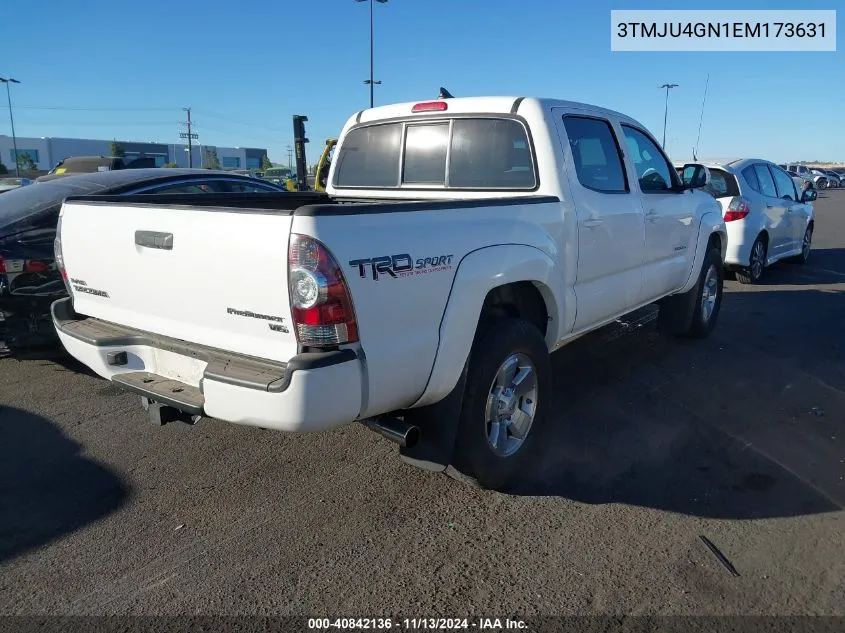
<svg viewBox="0 0 845 633">
<path fill-rule="evenodd" d="M 359 421 L 503 489 L 551 424 L 551 351 L 654 302 L 665 332 L 714 327 L 726 230 L 690 168 L 579 103 L 364 110 L 325 194 L 68 198 L 53 319 L 156 422 Z"/>
</svg>

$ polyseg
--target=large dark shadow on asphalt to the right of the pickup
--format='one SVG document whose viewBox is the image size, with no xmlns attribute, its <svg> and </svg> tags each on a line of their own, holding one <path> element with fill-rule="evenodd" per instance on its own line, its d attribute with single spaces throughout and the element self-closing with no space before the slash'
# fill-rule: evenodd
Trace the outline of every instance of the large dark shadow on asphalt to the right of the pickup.
<svg viewBox="0 0 845 633">
<path fill-rule="evenodd" d="M 815 372 L 845 377 L 829 338 L 843 319 L 841 293 L 730 292 L 709 340 L 652 322 L 574 342 L 553 356 L 553 437 L 512 492 L 730 519 L 840 510 L 845 378 Z M 795 358 L 771 340 L 791 326 Z"/>
</svg>

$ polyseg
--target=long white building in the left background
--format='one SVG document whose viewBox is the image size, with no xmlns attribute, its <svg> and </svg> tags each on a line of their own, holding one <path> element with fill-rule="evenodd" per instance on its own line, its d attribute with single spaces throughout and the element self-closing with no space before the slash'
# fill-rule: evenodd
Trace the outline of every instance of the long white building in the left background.
<svg viewBox="0 0 845 633">
<path fill-rule="evenodd" d="M 56 163 L 70 156 L 110 156 L 111 140 L 82 138 L 32 138 L 19 136 L 16 139 L 18 156 L 27 155 L 39 170 L 49 171 Z M 141 156 L 153 157 L 156 165 L 176 163 L 179 167 L 188 167 L 187 145 L 168 143 L 138 143 L 117 141 L 127 158 Z M 266 149 L 255 147 L 218 147 L 214 145 L 194 145 L 191 151 L 194 167 L 205 167 L 214 154 L 223 169 L 259 169 L 261 158 Z M 15 150 L 12 137 L 0 135 L 0 162 L 10 172 L 15 170 Z"/>
</svg>

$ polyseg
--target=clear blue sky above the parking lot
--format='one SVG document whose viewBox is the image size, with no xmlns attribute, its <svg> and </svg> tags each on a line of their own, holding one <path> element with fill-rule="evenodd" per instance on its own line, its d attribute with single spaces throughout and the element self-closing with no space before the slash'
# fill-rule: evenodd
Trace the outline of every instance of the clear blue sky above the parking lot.
<svg viewBox="0 0 845 633">
<path fill-rule="evenodd" d="M 354 0 L 12 2 L 0 76 L 19 136 L 178 141 L 193 108 L 200 142 L 267 147 L 287 163 L 293 114 L 322 141 L 369 104 L 369 11 Z M 801 9 L 836 2 L 804 0 Z M 710 0 L 707 9 L 795 9 L 792 0 Z M 694 3 L 683 8 L 697 8 Z M 691 155 L 710 74 L 699 157 L 845 161 L 845 53 L 610 51 L 611 9 L 641 0 L 389 0 L 375 5 L 376 104 L 516 94 L 595 103 L 639 119 Z M 839 12 L 839 21 L 845 11 Z M 3 95 L 5 96 L 5 95 Z M 9 134 L 0 109 L 0 134 Z"/>
</svg>

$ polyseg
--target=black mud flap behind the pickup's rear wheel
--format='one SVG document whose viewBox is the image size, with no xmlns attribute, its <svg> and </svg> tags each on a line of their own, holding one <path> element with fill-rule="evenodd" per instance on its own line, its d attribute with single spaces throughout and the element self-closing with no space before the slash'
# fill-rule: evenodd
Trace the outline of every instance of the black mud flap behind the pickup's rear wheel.
<svg viewBox="0 0 845 633">
<path fill-rule="evenodd" d="M 440 402 L 404 412 L 405 421 L 419 427 L 420 441 L 411 448 L 399 449 L 403 462 L 433 472 L 445 471 L 450 475 L 455 471 L 452 458 L 461 418 L 466 373 L 465 365 L 458 384 Z"/>
</svg>

